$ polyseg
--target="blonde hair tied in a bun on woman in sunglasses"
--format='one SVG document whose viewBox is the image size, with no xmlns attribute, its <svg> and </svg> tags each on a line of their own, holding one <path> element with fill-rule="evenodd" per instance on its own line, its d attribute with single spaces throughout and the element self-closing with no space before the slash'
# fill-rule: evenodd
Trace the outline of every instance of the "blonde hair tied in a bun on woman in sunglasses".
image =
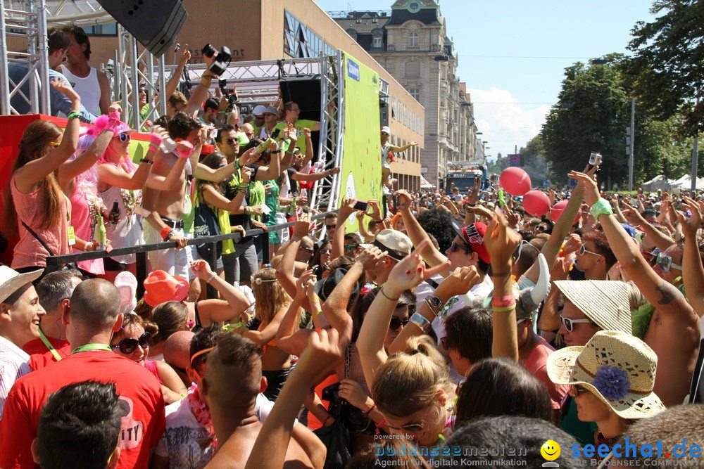
<svg viewBox="0 0 704 469">
<path fill-rule="evenodd" d="M 384 415 L 401 418 L 427 408 L 449 385 L 442 354 L 431 338 L 422 335 L 410 338 L 406 351 L 391 355 L 379 368 L 372 397 Z"/>
</svg>

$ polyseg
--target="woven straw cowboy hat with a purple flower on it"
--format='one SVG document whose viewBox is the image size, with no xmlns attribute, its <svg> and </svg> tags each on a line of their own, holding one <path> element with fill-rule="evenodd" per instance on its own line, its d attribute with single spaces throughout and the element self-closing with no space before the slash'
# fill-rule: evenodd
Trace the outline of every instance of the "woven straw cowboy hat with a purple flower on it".
<svg viewBox="0 0 704 469">
<path fill-rule="evenodd" d="M 601 330 L 584 346 L 548 355 L 547 368 L 553 383 L 586 387 L 622 418 L 665 410 L 653 392 L 658 356 L 631 334 Z"/>
</svg>

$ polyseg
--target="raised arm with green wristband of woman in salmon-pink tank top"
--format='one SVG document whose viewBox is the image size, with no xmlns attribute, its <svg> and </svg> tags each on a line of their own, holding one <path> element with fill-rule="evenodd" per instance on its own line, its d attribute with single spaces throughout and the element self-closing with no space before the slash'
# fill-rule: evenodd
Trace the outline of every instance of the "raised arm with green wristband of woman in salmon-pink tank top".
<svg viewBox="0 0 704 469">
<path fill-rule="evenodd" d="M 71 88 L 70 84 L 66 83 L 63 79 L 53 79 L 51 80 L 51 87 L 70 99 L 70 113 L 78 112 L 81 105 L 81 98 L 74 89 Z M 63 131 L 61 143 L 54 148 L 54 150 L 51 150 L 46 155 L 42 156 L 42 158 L 27 162 L 23 167 L 15 171 L 13 179 L 15 180 L 15 186 L 18 190 L 22 193 L 34 192 L 40 181 L 46 176 L 49 176 L 49 174 L 60 167 L 63 162 L 68 160 L 78 146 L 79 131 L 80 120 L 76 117 L 69 119 Z"/>
</svg>

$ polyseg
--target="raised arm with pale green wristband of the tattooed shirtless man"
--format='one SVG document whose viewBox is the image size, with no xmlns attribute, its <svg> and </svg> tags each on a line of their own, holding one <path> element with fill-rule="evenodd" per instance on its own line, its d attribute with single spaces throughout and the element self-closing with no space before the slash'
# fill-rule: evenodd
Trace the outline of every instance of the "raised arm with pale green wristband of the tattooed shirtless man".
<svg viewBox="0 0 704 469">
<path fill-rule="evenodd" d="M 571 172 L 569 176 L 584 184 L 584 198 L 586 203 L 592 207 L 592 210 L 594 210 L 594 204 L 598 202 L 604 204 L 600 202 L 596 181 L 591 176 L 575 171 Z M 643 255 L 641 255 L 636 243 L 631 240 L 631 237 L 616 220 L 616 217 L 610 214 L 610 210 L 605 210 L 606 208 L 610 209 L 610 206 L 599 207 L 598 221 L 601 223 L 616 259 L 618 259 L 624 271 L 641 290 L 648 302 L 653 304 L 663 314 L 677 315 L 682 318 L 693 314 L 693 310 L 684 295 L 674 285 L 658 276 L 646 259 L 643 258 Z"/>
</svg>

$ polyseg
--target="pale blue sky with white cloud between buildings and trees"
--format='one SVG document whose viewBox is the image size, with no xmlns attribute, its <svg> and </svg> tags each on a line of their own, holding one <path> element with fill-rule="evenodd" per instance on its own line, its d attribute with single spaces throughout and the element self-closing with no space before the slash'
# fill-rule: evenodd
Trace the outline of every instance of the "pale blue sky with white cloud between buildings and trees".
<svg viewBox="0 0 704 469">
<path fill-rule="evenodd" d="M 391 9 L 393 0 L 315 0 L 325 11 Z M 565 67 L 626 52 L 650 0 L 440 0 L 458 75 L 470 89 L 487 155 L 513 153 L 557 101 Z"/>
</svg>

